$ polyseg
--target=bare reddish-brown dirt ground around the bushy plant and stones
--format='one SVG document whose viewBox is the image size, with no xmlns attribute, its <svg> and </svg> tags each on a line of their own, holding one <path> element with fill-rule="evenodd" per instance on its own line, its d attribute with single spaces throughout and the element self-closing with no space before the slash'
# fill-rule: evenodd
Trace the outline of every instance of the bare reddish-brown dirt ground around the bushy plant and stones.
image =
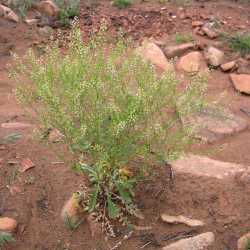
<svg viewBox="0 0 250 250">
<path fill-rule="evenodd" d="M 249 3 L 195 1 L 186 7 L 190 18 L 184 20 L 178 17 L 178 8 L 179 6 L 173 4 L 160 5 L 151 1 L 118 10 L 111 7 L 108 1 L 101 1 L 97 7 L 87 7 L 85 1 L 82 1 L 80 23 L 84 36 L 88 37 L 90 31 L 97 29 L 101 20 L 105 18 L 110 33 L 115 34 L 121 26 L 128 36 L 132 36 L 135 40 L 142 40 L 144 37 L 168 39 L 176 32 L 191 32 L 191 19 L 197 20 L 211 15 L 227 22 L 223 26 L 224 31 L 250 29 Z M 176 14 L 177 18 L 170 18 Z M 40 43 L 42 40 L 36 28 L 25 24 L 13 24 L 0 18 L 0 123 L 7 121 L 32 123 L 27 112 L 15 99 L 16 86 L 8 78 L 12 58 L 5 52 L 10 46 L 14 52 L 22 55 L 34 42 Z M 233 57 L 231 54 L 230 56 Z M 250 98 L 236 93 L 228 74 L 219 71 L 211 73 L 208 98 L 221 99 L 221 103 L 230 106 L 235 113 L 250 123 L 250 117 L 240 111 L 242 107 L 250 111 Z M 1 128 L 0 138 L 10 133 L 20 133 L 22 138 L 15 143 L 0 147 L 0 215 L 16 218 L 19 227 L 15 234 L 16 243 L 7 246 L 6 250 L 111 249 L 116 240 L 106 242 L 103 237 L 91 238 L 87 223 L 82 223 L 76 231 L 70 232 L 60 220 L 63 204 L 72 192 L 79 189 L 83 177 L 70 170 L 69 161 L 67 164 L 55 164 L 62 161 L 60 154 L 56 153 L 59 146 L 51 147 L 39 141 L 32 129 Z M 250 166 L 250 131 L 210 145 L 197 143 L 192 150 L 214 159 Z M 25 173 L 17 174 L 19 163 L 23 158 L 30 158 L 36 166 Z M 11 163 L 13 161 L 14 163 Z M 249 200 L 249 187 L 239 188 L 235 190 L 234 196 L 228 197 L 225 183 L 211 186 L 208 180 L 204 180 L 205 188 L 200 190 L 201 187 L 197 186 L 196 190 L 190 192 L 190 186 L 194 186 L 190 180 L 177 178 L 171 185 L 168 171 L 162 168 L 155 173 L 153 180 L 146 180 L 143 188 L 138 188 L 137 192 L 138 203 L 146 218 L 137 223 L 150 225 L 153 230 L 136 232 L 120 249 L 140 249 L 147 243 L 147 237 L 150 241 L 155 238 L 155 243 L 160 245 L 151 244 L 145 249 L 157 249 L 167 245 L 168 242 L 163 240 L 167 235 L 189 230 L 184 226 L 167 226 L 161 223 L 159 220 L 161 212 L 189 214 L 202 219 L 206 222 L 206 226 L 198 232 L 212 231 L 216 234 L 214 250 L 236 249 L 237 239 L 250 230 L 250 204 L 249 201 L 246 202 Z M 13 189 L 13 186 L 18 187 L 19 192 L 11 194 L 9 187 Z M 159 190 L 163 191 L 158 196 L 156 194 Z M 225 193 L 225 200 L 213 201 L 214 193 Z M 210 198 L 204 199 L 203 196 Z M 233 218 L 227 217 L 227 214 L 232 212 L 227 210 L 230 202 L 239 206 L 244 204 L 239 210 L 235 210 L 240 212 Z M 124 232 L 121 230 L 121 233 Z"/>
</svg>

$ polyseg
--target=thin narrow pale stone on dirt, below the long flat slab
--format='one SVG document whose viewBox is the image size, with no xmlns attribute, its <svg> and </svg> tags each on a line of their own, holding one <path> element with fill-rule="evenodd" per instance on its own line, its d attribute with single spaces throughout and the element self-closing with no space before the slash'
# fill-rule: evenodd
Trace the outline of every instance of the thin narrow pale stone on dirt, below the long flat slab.
<svg viewBox="0 0 250 250">
<path fill-rule="evenodd" d="M 183 215 L 179 215 L 179 216 L 171 216 L 168 214 L 162 214 L 161 215 L 161 219 L 164 222 L 167 222 L 169 224 L 185 224 L 189 227 L 201 227 L 204 226 L 204 222 L 200 221 L 200 220 L 194 220 L 194 219 L 190 219 L 187 218 Z"/>
</svg>

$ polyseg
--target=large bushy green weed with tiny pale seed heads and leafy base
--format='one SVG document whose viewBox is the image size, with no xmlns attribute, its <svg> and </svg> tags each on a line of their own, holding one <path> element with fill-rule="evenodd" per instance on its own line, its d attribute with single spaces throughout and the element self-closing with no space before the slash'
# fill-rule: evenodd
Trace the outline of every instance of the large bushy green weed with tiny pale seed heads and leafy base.
<svg viewBox="0 0 250 250">
<path fill-rule="evenodd" d="M 180 116 L 202 106 L 203 77 L 177 90 L 173 72 L 157 76 L 153 66 L 120 38 L 100 31 L 88 44 L 74 27 L 66 55 L 57 45 L 42 58 L 17 58 L 17 96 L 46 127 L 57 128 L 78 159 L 74 169 L 90 180 L 85 209 L 127 221 L 136 214 L 138 174 L 154 162 L 178 157 L 190 143 Z M 19 62 L 19 63 L 18 63 Z M 137 164 L 135 164 L 137 162 Z"/>
</svg>

